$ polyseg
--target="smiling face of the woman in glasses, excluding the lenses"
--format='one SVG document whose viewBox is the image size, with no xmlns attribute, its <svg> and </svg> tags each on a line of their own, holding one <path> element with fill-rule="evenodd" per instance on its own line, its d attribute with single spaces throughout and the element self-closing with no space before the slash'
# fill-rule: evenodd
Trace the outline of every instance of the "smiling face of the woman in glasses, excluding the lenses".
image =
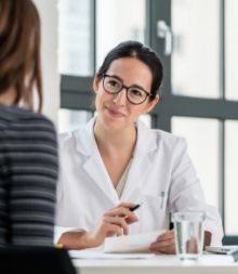
<svg viewBox="0 0 238 274">
<path fill-rule="evenodd" d="M 136 86 L 150 92 L 153 75 L 143 62 L 124 57 L 115 60 L 106 75 L 118 77 L 125 87 Z M 155 100 L 149 97 L 140 105 L 131 104 L 127 99 L 127 90 L 122 89 L 117 94 L 109 94 L 104 90 L 103 79 L 94 79 L 94 91 L 96 93 L 95 106 L 97 119 L 104 127 L 109 129 L 124 129 L 134 127 L 141 114 L 148 113 L 159 101 L 157 95 Z"/>
</svg>

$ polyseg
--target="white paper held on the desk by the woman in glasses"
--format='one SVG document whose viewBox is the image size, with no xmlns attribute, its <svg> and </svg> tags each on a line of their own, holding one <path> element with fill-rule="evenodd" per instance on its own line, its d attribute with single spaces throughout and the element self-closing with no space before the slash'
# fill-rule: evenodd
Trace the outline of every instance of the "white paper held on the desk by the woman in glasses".
<svg viewBox="0 0 238 274">
<path fill-rule="evenodd" d="M 149 246 L 164 231 L 155 231 L 150 233 L 133 234 L 120 237 L 108 237 L 104 243 L 105 253 L 146 253 L 149 252 Z"/>
</svg>

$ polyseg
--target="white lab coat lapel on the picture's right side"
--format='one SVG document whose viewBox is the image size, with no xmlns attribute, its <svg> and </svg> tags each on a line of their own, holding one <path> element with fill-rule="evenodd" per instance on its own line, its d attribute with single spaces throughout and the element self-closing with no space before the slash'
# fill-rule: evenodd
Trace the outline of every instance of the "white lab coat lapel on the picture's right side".
<svg viewBox="0 0 238 274">
<path fill-rule="evenodd" d="M 157 148 L 155 134 L 143 122 L 137 123 L 137 143 L 121 200 L 142 203 L 142 187 L 151 168 L 151 152 Z"/>
</svg>

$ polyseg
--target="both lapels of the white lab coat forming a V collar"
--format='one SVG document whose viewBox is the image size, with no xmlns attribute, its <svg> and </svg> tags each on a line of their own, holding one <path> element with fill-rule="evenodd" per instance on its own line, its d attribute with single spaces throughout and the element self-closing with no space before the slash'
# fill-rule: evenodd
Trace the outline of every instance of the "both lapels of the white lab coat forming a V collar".
<svg viewBox="0 0 238 274">
<path fill-rule="evenodd" d="M 83 165 L 85 172 L 88 172 L 107 198 L 111 200 L 113 206 L 118 205 L 120 200 L 141 203 L 142 200 L 138 200 L 138 192 L 141 193 L 141 187 L 146 182 L 147 171 L 151 166 L 150 153 L 157 149 L 156 134 L 142 121 L 136 122 L 137 142 L 133 161 L 121 199 L 119 199 L 97 149 L 93 132 L 94 122 L 95 118 L 91 119 L 83 130 L 75 133 L 76 149 L 89 156 Z"/>
</svg>

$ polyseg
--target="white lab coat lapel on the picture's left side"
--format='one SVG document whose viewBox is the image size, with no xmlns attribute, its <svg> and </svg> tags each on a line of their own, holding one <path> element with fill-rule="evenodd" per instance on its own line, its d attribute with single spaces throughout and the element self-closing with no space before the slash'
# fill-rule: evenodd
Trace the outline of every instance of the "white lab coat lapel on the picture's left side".
<svg viewBox="0 0 238 274">
<path fill-rule="evenodd" d="M 79 131 L 80 133 L 76 138 L 77 151 L 87 156 L 83 164 L 84 171 L 105 195 L 105 198 L 111 201 L 111 206 L 115 206 L 119 204 L 119 198 L 97 149 L 93 133 L 94 120 L 90 120 L 84 130 Z"/>
</svg>

